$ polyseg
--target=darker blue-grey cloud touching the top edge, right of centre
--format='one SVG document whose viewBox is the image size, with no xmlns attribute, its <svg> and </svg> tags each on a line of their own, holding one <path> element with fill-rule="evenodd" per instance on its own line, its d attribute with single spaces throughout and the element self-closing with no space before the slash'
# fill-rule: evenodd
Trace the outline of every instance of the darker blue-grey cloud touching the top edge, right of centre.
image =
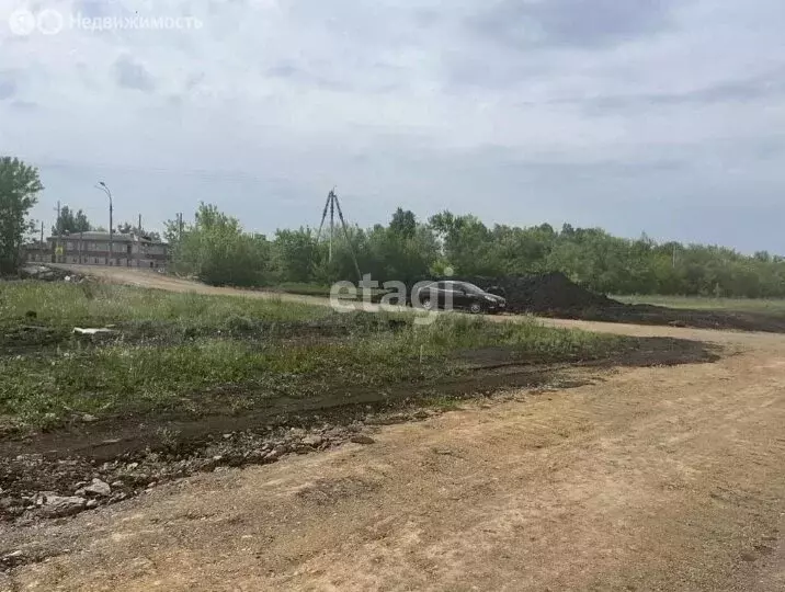
<svg viewBox="0 0 785 592">
<path fill-rule="evenodd" d="M 663 31 L 671 0 L 502 0 L 470 27 L 515 47 L 596 48 Z"/>
</svg>

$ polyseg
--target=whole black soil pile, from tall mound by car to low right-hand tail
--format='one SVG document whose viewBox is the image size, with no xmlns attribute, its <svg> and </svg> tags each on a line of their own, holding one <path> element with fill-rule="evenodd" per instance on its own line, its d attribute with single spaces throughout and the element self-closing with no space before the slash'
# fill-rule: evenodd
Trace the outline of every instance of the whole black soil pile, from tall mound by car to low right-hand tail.
<svg viewBox="0 0 785 592">
<path fill-rule="evenodd" d="M 504 296 L 510 312 L 633 325 L 665 325 L 697 329 L 735 329 L 785 333 L 785 318 L 762 312 L 675 309 L 651 305 L 626 305 L 596 294 L 562 273 L 462 277 Z"/>
</svg>

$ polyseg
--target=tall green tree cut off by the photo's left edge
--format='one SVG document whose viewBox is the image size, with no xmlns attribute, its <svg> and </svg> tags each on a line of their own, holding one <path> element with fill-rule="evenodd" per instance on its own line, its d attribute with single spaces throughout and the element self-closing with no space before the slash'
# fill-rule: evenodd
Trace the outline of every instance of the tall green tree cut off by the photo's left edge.
<svg viewBox="0 0 785 592">
<path fill-rule="evenodd" d="M 19 267 L 22 241 L 33 229 L 27 216 L 43 189 L 35 167 L 0 157 L 0 274 Z"/>
</svg>

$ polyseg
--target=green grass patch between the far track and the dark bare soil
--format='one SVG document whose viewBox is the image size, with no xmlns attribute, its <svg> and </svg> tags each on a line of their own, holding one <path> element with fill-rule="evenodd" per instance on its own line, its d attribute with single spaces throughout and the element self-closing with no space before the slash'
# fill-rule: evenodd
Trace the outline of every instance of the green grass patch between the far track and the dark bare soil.
<svg viewBox="0 0 785 592">
<path fill-rule="evenodd" d="M 466 350 L 504 346 L 550 361 L 602 357 L 622 343 L 534 319 L 493 323 L 443 315 L 418 326 L 411 314 L 339 315 L 300 304 L 123 286 L 11 283 L 0 289 L 5 327 L 31 322 L 29 309 L 44 327 L 121 327 L 106 343 L 75 341 L 64 332 L 55 343 L 0 354 L 0 420 L 16 428 L 56 426 L 80 413 L 238 412 L 283 396 L 322 397 L 459 374 L 468 367 L 456 354 Z M 389 320 L 405 323 L 391 327 Z M 286 322 L 287 332 L 260 339 L 254 328 L 261 321 Z M 306 335 L 315 322 L 330 331 Z M 239 333 L 226 331 L 237 325 Z M 125 328 L 143 326 L 168 334 L 128 338 Z M 172 339 L 172 327 L 198 331 Z M 333 333 L 335 328 L 341 331 Z"/>
</svg>

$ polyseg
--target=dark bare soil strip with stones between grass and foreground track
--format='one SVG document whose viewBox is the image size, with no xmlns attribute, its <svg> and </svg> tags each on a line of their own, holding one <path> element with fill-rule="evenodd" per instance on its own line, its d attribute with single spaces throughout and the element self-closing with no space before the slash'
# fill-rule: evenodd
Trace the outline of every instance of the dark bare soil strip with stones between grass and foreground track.
<svg viewBox="0 0 785 592">
<path fill-rule="evenodd" d="M 562 364 L 521 360 L 504 348 L 489 348 L 464 353 L 470 372 L 437 382 L 384 389 L 341 386 L 319 397 L 276 398 L 241 415 L 216 409 L 200 418 L 122 417 L 0 440 L 0 519 L 59 517 L 123 501 L 194 473 L 269 464 L 288 453 L 330 448 L 366 425 L 426 418 L 423 405 L 443 406 L 501 389 L 582 384 L 562 376 L 569 367 L 717 360 L 715 349 L 696 341 L 630 338 L 625 343 L 614 357 Z M 103 485 L 93 487 L 94 480 Z M 67 497 L 73 499 L 60 499 Z M 49 498 L 62 508 L 53 510 Z"/>
</svg>

